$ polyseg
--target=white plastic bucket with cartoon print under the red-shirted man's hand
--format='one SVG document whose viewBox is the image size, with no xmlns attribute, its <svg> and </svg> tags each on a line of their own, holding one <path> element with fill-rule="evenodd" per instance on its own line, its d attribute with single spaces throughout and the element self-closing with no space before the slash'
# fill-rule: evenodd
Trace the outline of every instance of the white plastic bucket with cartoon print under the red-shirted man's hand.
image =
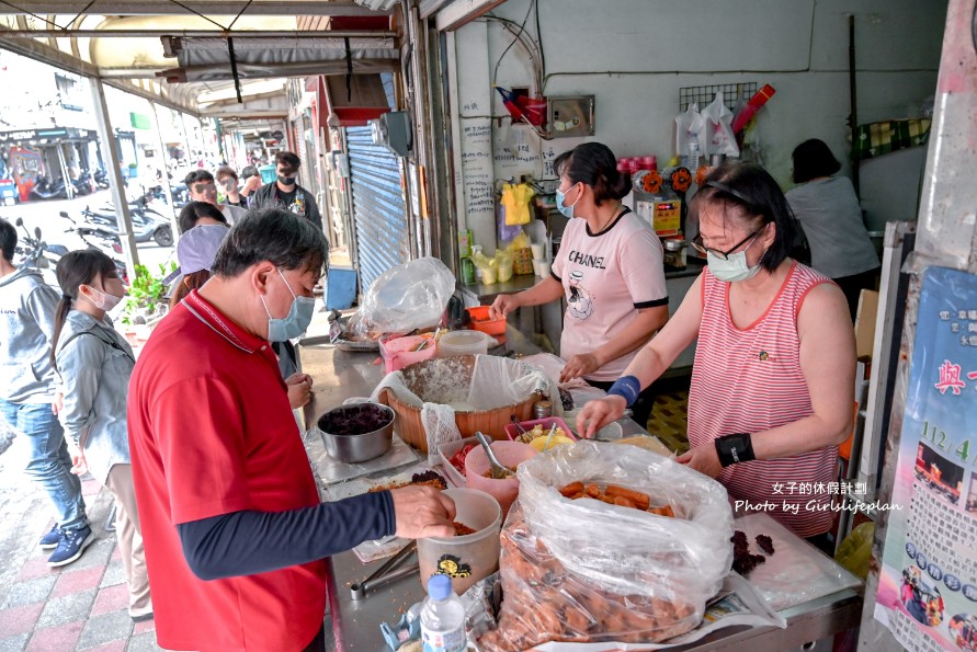
<svg viewBox="0 0 977 652">
<path fill-rule="evenodd" d="M 484 491 L 445 489 L 442 493 L 455 502 L 455 522 L 475 531 L 461 537 L 418 539 L 421 585 L 427 586 L 428 580 L 440 573 L 451 577 L 452 588 L 461 595 L 499 570 L 502 510 Z"/>
</svg>

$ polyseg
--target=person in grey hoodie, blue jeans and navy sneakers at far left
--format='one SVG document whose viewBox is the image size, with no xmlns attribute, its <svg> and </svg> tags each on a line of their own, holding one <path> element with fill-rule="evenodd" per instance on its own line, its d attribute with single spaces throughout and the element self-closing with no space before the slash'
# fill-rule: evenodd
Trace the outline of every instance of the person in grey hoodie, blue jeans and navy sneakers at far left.
<svg viewBox="0 0 977 652">
<path fill-rule="evenodd" d="M 13 265 L 16 241 L 13 225 L 0 219 L 0 410 L 11 430 L 27 437 L 25 472 L 54 504 L 55 526 L 39 545 L 54 548 L 47 563 L 59 567 L 81 557 L 95 537 L 57 420 L 50 341 L 58 295 L 38 272 Z"/>
</svg>

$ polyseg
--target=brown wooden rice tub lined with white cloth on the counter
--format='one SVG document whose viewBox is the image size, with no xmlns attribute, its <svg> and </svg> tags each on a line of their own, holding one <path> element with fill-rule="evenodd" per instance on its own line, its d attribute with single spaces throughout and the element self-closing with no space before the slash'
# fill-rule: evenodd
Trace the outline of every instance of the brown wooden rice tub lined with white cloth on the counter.
<svg viewBox="0 0 977 652">
<path fill-rule="evenodd" d="M 514 365 L 522 364 L 516 361 L 509 362 Z M 421 400 L 441 402 L 431 400 L 435 398 L 431 396 L 435 391 L 432 386 L 436 384 L 434 379 L 440 376 L 439 370 L 441 369 L 444 369 L 444 373 L 457 375 L 458 386 L 464 384 L 467 387 L 475 369 L 475 356 L 458 355 L 424 361 L 404 367 L 401 373 L 408 389 Z M 479 431 L 492 439 L 508 441 L 505 424 L 512 423 L 513 415 L 520 421 L 532 419 L 533 403 L 538 400 L 541 400 L 539 393 L 533 392 L 519 403 L 493 410 L 456 410 L 455 424 L 463 438 L 472 437 L 476 431 Z M 428 437 L 421 423 L 421 409 L 401 401 L 389 388 L 380 392 L 379 402 L 389 405 L 397 413 L 396 427 L 399 428 L 397 434 L 400 435 L 400 438 L 422 453 L 428 453 Z"/>
</svg>

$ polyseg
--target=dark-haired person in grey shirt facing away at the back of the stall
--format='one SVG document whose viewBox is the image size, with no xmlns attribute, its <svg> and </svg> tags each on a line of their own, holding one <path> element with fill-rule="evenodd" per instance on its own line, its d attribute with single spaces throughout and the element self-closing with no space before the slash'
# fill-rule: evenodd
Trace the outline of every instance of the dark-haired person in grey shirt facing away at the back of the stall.
<svg viewBox="0 0 977 652">
<path fill-rule="evenodd" d="M 841 163 L 823 140 L 805 140 L 792 157 L 798 185 L 787 191 L 787 204 L 807 237 L 811 267 L 838 284 L 854 320 L 859 296 L 875 289 L 881 266 L 855 188 L 836 175 Z"/>
</svg>

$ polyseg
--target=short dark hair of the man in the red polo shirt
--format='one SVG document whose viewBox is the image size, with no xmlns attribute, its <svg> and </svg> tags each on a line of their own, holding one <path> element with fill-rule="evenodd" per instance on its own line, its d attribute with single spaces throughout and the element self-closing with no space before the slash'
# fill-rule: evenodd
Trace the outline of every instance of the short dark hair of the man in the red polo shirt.
<svg viewBox="0 0 977 652">
<path fill-rule="evenodd" d="M 328 256 L 329 241 L 313 222 L 271 207 L 248 213 L 230 229 L 211 273 L 232 278 L 262 261 L 282 270 L 321 271 Z"/>
</svg>

